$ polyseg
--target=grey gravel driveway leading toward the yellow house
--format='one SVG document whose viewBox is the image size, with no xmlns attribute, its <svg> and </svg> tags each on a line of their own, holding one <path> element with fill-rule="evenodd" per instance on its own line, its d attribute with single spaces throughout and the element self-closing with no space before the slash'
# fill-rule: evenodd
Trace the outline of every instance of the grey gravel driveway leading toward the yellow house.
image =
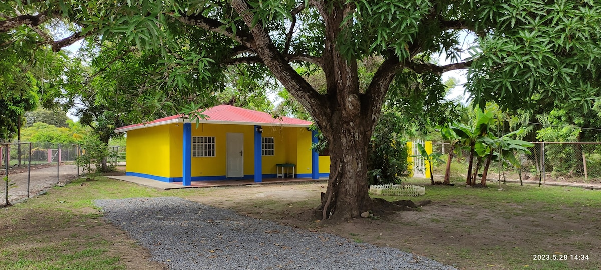
<svg viewBox="0 0 601 270">
<path fill-rule="evenodd" d="M 169 269 L 455 269 L 394 248 L 281 226 L 177 197 L 96 200 Z"/>
</svg>

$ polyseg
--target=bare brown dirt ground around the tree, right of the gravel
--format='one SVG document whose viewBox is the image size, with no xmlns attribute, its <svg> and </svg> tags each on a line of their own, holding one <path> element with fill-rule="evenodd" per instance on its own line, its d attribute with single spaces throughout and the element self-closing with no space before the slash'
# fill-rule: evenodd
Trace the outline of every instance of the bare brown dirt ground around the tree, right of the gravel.
<svg viewBox="0 0 601 270">
<path fill-rule="evenodd" d="M 398 248 L 460 269 L 549 269 L 553 265 L 548 263 L 557 263 L 534 261 L 537 254 L 590 256 L 589 260 L 560 262 L 567 268 L 554 265 L 553 269 L 601 267 L 601 211 L 586 205 L 577 212 L 557 205 L 552 216 L 541 216 L 535 213 L 546 206 L 502 203 L 482 207 L 445 200 L 421 211 L 384 218 L 359 218 L 341 224 L 302 220 L 302 212 L 319 205 L 320 192 L 325 189 L 325 182 L 249 185 L 220 188 L 188 199 L 355 242 Z"/>
</svg>

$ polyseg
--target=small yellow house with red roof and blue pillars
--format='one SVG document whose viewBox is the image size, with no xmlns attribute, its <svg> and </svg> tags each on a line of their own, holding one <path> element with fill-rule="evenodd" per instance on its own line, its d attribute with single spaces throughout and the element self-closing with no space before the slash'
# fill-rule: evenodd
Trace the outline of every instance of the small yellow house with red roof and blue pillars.
<svg viewBox="0 0 601 270">
<path fill-rule="evenodd" d="M 329 176 L 311 150 L 311 122 L 221 105 L 200 124 L 181 115 L 118 128 L 127 133 L 126 175 L 163 182 Z"/>
</svg>

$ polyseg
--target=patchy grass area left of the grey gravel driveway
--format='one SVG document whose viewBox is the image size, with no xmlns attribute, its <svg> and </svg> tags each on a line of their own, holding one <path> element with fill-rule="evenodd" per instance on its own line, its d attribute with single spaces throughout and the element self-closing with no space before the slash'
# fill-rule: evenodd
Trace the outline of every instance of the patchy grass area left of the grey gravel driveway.
<svg viewBox="0 0 601 270">
<path fill-rule="evenodd" d="M 117 248 L 120 231 L 103 222 L 93 200 L 159 196 L 165 193 L 108 178 L 79 179 L 1 209 L 0 227 L 8 229 L 0 230 L 0 269 L 126 269 L 121 257 L 147 251 Z"/>
</svg>

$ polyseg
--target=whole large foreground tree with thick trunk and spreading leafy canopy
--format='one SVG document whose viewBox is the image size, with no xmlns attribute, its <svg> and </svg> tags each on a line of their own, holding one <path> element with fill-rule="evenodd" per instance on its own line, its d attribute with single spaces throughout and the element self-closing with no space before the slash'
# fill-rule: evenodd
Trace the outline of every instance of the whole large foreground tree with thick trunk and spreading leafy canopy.
<svg viewBox="0 0 601 270">
<path fill-rule="evenodd" d="M 0 5 L 0 34 L 23 40 L 33 31 L 53 51 L 88 37 L 114 44 L 115 59 L 146 57 L 152 87 L 141 89 L 157 100 L 219 91 L 232 65 L 254 79 L 275 77 L 328 140 L 331 176 L 320 211 L 340 219 L 376 207 L 366 158 L 391 85 L 428 106 L 424 93 L 444 96 L 442 73 L 468 68 L 466 87 L 480 104 L 591 106 L 601 82 L 600 7 L 594 0 L 9 1 Z M 40 26 L 49 22 L 72 35 L 48 38 Z M 460 58 L 461 32 L 477 36 L 469 59 Z M 452 64 L 425 60 L 437 54 Z M 361 78 L 358 62 L 374 57 L 381 62 Z M 323 90 L 306 79 L 316 72 L 324 74 Z M 420 80 L 428 83 L 415 87 Z"/>
</svg>

